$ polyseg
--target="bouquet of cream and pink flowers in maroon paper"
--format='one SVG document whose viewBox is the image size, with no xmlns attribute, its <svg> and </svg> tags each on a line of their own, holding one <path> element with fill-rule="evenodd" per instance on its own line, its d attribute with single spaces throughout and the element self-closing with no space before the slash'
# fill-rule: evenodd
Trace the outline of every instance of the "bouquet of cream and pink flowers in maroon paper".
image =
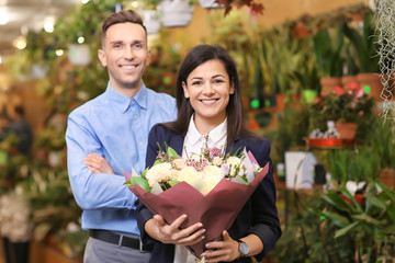
<svg viewBox="0 0 395 263">
<path fill-rule="evenodd" d="M 260 168 L 245 149 L 230 156 L 218 148 L 204 147 L 201 155 L 183 159 L 167 147 L 142 176 L 125 172 L 125 184 L 168 224 L 182 214 L 188 215 L 182 228 L 202 222 L 205 239 L 188 247 L 199 258 L 206 242 L 221 239 L 222 231 L 232 226 L 268 171 L 269 163 Z"/>
</svg>

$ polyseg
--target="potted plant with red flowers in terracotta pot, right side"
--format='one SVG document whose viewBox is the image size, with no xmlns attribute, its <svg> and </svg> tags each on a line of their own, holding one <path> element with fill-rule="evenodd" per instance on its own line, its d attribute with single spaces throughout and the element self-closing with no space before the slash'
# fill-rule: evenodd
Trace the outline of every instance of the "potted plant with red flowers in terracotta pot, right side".
<svg viewBox="0 0 395 263">
<path fill-rule="evenodd" d="M 357 129 L 364 132 L 375 116 L 374 100 L 358 83 L 349 85 L 347 90 L 335 87 L 332 92 L 317 98 L 309 106 L 309 113 L 312 130 L 326 130 L 327 122 L 334 121 L 341 139 L 353 139 Z M 352 126 L 353 133 L 346 134 L 347 130 L 341 130 L 345 124 Z"/>
</svg>

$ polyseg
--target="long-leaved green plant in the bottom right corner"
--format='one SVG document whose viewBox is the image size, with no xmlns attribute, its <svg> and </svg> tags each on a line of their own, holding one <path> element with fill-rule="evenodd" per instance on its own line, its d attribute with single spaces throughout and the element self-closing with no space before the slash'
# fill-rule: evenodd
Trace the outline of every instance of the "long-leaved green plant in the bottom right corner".
<svg viewBox="0 0 395 263">
<path fill-rule="evenodd" d="M 326 220 L 336 226 L 335 239 L 348 237 L 353 248 L 347 248 L 354 255 L 354 262 L 376 262 L 394 260 L 395 254 L 395 192 L 380 184 L 369 184 L 366 202 L 359 204 L 353 196 L 340 186 L 340 193 L 352 203 L 347 203 L 339 193 L 329 191 L 321 198 L 328 204 L 323 210 Z M 346 248 L 345 248 L 346 249 Z"/>
</svg>

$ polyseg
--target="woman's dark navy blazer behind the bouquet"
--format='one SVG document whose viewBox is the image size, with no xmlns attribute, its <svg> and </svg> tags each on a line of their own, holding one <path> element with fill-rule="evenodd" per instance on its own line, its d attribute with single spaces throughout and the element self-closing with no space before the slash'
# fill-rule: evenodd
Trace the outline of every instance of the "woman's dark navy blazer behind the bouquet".
<svg viewBox="0 0 395 263">
<path fill-rule="evenodd" d="M 166 142 L 181 156 L 183 141 L 184 137 L 180 136 L 176 132 L 161 125 L 154 126 L 148 137 L 146 165 L 151 167 L 156 160 L 159 150 L 157 142 L 159 142 L 162 150 L 166 149 Z M 228 229 L 228 232 L 235 240 L 244 238 L 249 233 L 257 235 L 263 243 L 263 251 L 255 258 L 258 261 L 261 261 L 274 247 L 281 236 L 278 210 L 275 207 L 273 168 L 269 156 L 270 146 L 267 139 L 258 137 L 251 139 L 240 138 L 236 139 L 234 141 L 234 146 L 228 147 L 226 151 L 235 152 L 240 147 L 246 147 L 247 151 L 250 150 L 260 167 L 264 167 L 268 162 L 270 162 L 270 168 L 268 175 L 262 180 L 249 201 L 247 201 L 234 224 Z M 144 226 L 150 218 L 153 218 L 153 213 L 140 202 L 137 208 L 137 224 L 142 233 L 142 240 L 145 244 L 154 244 L 149 262 L 172 263 L 174 258 L 174 245 L 163 244 L 151 239 L 147 232 L 145 232 Z M 235 262 L 252 261 L 250 258 L 246 258 L 239 259 Z"/>
</svg>

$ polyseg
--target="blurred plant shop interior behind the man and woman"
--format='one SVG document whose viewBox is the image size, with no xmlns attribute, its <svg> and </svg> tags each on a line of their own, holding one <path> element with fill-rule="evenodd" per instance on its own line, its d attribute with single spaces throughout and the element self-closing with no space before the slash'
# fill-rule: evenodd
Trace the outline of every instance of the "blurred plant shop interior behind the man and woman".
<svg viewBox="0 0 395 263">
<path fill-rule="evenodd" d="M 270 144 L 282 232 L 242 262 L 395 262 L 394 0 L 18 0 L 0 1 L 0 263 L 84 262 L 68 116 L 106 91 L 101 24 L 131 9 L 155 92 L 178 95 L 198 45 L 237 66 L 246 128 Z M 7 133 L 14 114 L 24 123 Z"/>
</svg>

